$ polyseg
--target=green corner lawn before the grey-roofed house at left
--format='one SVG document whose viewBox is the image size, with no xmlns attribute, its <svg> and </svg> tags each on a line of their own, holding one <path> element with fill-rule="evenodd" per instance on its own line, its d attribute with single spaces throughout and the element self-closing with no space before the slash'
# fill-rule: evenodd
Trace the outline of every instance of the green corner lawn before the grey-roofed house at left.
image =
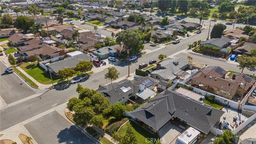
<svg viewBox="0 0 256 144">
<path fill-rule="evenodd" d="M 51 76 L 49 73 L 45 73 L 44 69 L 39 67 L 37 65 L 37 62 L 35 63 L 22 63 L 20 65 L 20 68 L 22 68 L 26 73 L 28 73 L 31 77 L 35 78 L 37 82 L 41 84 L 51 84 Z M 52 75 L 53 76 L 53 75 Z M 60 79 L 53 76 L 53 83 L 58 82 Z"/>
</svg>

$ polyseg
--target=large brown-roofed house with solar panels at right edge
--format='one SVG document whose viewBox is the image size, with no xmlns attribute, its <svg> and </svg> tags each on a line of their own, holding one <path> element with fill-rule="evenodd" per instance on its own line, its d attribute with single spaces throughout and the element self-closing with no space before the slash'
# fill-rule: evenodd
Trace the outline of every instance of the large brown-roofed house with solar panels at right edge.
<svg viewBox="0 0 256 144">
<path fill-rule="evenodd" d="M 207 73 L 207 71 L 209 72 Z M 222 68 L 200 71 L 191 78 L 191 85 L 199 86 L 201 89 L 221 97 L 233 99 L 235 95 L 242 97 L 255 83 L 255 79 L 241 73 L 225 77 L 223 75 L 226 75 L 226 72 Z"/>
</svg>

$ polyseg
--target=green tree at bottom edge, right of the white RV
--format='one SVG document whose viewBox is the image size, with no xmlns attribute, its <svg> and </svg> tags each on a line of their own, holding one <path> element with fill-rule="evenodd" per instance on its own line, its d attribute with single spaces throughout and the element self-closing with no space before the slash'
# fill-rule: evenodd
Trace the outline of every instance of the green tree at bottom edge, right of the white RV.
<svg viewBox="0 0 256 144">
<path fill-rule="evenodd" d="M 235 138 L 235 135 L 230 130 L 226 130 L 218 138 L 215 138 L 213 143 L 214 144 L 221 144 L 221 143 L 234 144 L 235 143 L 234 138 Z"/>
</svg>

